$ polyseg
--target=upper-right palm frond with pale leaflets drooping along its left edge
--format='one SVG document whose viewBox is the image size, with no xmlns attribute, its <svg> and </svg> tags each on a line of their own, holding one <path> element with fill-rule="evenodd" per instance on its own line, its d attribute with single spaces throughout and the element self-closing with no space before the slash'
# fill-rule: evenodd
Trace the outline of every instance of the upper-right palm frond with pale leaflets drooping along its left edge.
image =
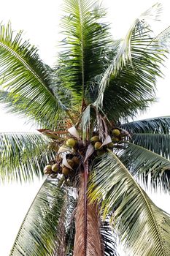
<svg viewBox="0 0 170 256">
<path fill-rule="evenodd" d="M 159 10 L 159 5 L 156 7 Z M 150 12 L 152 14 L 152 8 Z M 150 12 L 135 20 L 99 83 L 95 104 L 107 108 L 105 111 L 110 118 L 115 118 L 115 112 L 127 118 L 127 109 L 128 115 L 133 116 L 133 110 L 147 108 L 148 102 L 155 98 L 156 77 L 162 75 L 160 65 L 167 48 L 163 48 L 161 37 L 152 36 L 150 26 L 144 20 L 146 15 L 150 17 Z M 166 32 L 169 35 L 170 29 Z M 108 96 L 115 104 L 108 105 Z"/>
</svg>

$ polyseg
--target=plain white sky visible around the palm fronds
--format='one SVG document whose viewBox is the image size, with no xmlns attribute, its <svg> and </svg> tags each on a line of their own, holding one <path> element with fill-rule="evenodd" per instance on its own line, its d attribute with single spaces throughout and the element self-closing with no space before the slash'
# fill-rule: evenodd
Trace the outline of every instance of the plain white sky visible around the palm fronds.
<svg viewBox="0 0 170 256">
<path fill-rule="evenodd" d="M 169 1 L 162 0 L 163 15 L 162 22 L 156 23 L 155 29 L 161 31 L 170 25 Z M 57 53 L 58 24 L 60 18 L 59 6 L 61 0 L 0 0 L 0 20 L 7 23 L 12 22 L 14 30 L 23 29 L 26 39 L 31 39 L 31 43 L 39 48 L 39 55 L 47 64 L 53 65 Z M 120 38 L 128 31 L 134 18 L 147 10 L 156 1 L 151 0 L 128 0 L 112 1 L 103 0 L 104 7 L 108 7 L 108 20 L 113 23 L 112 29 L 115 38 Z M 150 118 L 153 116 L 170 115 L 170 61 L 166 62 L 163 70 L 166 78 L 158 80 L 158 103 L 140 118 Z M 22 119 L 16 116 L 9 116 L 1 110 L 0 105 L 0 132 L 5 131 L 28 131 L 30 126 L 23 124 Z M 33 129 L 33 128 L 31 128 Z M 36 180 L 34 184 L 6 184 L 0 186 L 0 255 L 9 255 L 9 249 L 23 217 L 36 195 L 37 189 L 42 181 Z M 161 208 L 170 213 L 169 196 L 152 196 L 152 200 Z M 123 255 L 123 254 L 122 254 Z"/>
</svg>

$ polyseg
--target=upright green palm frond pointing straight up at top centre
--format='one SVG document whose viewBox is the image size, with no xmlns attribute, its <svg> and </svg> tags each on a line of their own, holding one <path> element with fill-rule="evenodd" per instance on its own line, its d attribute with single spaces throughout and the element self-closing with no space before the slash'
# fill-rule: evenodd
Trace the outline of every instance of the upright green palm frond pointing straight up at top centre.
<svg viewBox="0 0 170 256">
<path fill-rule="evenodd" d="M 60 56 L 58 76 L 75 97 L 89 101 L 90 80 L 104 72 L 108 62 L 111 40 L 108 25 L 102 20 L 105 11 L 95 0 L 65 0 L 64 4 L 62 27 L 66 38 L 62 44 L 66 50 Z"/>
</svg>

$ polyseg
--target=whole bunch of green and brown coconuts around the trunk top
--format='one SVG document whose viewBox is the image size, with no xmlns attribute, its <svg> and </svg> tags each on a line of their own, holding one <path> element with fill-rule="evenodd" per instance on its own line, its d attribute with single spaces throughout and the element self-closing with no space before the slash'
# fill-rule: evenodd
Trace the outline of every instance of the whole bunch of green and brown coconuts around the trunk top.
<svg viewBox="0 0 170 256">
<path fill-rule="evenodd" d="M 88 151 L 88 146 L 93 145 L 93 150 L 90 153 L 89 160 L 94 159 L 96 155 L 101 155 L 107 148 L 114 148 L 115 143 L 118 143 L 122 139 L 123 135 L 120 129 L 112 129 L 108 143 L 101 141 L 98 134 L 94 134 L 89 141 L 82 141 L 77 138 L 68 138 L 63 141 L 61 146 L 56 146 L 55 142 L 50 145 L 51 148 L 58 149 L 56 159 L 45 166 L 44 173 L 46 175 L 51 174 L 63 174 L 66 178 L 74 178 L 77 172 L 83 170 L 82 162 L 85 160 L 85 155 Z"/>
</svg>

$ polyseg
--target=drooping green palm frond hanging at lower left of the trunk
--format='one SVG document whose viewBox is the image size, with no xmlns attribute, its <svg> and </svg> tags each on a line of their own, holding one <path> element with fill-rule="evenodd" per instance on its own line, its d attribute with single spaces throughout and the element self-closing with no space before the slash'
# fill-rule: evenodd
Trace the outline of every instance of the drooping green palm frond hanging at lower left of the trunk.
<svg viewBox="0 0 170 256">
<path fill-rule="evenodd" d="M 66 249 L 61 243 L 65 235 L 61 225 L 66 225 L 73 208 L 74 199 L 61 181 L 48 178 L 23 220 L 10 256 L 55 256 L 58 246 Z"/>
</svg>

